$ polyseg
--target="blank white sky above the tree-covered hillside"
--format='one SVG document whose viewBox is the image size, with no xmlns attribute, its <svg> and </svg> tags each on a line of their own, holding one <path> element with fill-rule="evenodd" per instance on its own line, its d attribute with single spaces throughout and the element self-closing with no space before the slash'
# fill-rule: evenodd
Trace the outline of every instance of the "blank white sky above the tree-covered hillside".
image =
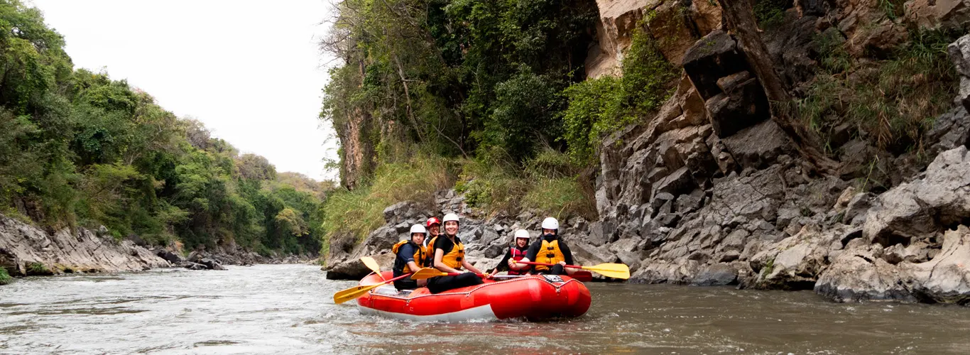
<svg viewBox="0 0 970 355">
<path fill-rule="evenodd" d="M 279 172 L 337 178 L 331 129 L 320 128 L 327 81 L 317 42 L 326 0 L 28 0 L 62 34 L 76 68 L 113 80 L 193 116 Z"/>
</svg>

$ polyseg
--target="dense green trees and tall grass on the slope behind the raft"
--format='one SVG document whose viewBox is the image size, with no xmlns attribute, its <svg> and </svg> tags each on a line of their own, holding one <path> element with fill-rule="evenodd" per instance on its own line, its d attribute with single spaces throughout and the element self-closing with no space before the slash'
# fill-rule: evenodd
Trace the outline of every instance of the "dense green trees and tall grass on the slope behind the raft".
<svg viewBox="0 0 970 355">
<path fill-rule="evenodd" d="M 359 240 L 385 207 L 452 184 L 493 215 L 596 218 L 598 142 L 657 110 L 677 75 L 638 30 L 622 79 L 584 81 L 597 14 L 578 0 L 341 2 L 320 117 L 365 181 L 328 198 L 328 236 Z"/>
</svg>

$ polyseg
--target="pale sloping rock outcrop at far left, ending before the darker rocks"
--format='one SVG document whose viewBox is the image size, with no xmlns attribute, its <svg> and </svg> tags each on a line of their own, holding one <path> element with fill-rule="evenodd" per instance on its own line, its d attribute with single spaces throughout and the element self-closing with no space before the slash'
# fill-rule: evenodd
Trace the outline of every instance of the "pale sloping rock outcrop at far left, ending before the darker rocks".
<svg viewBox="0 0 970 355">
<path fill-rule="evenodd" d="M 0 267 L 12 275 L 134 272 L 169 266 L 131 241 L 116 241 L 82 228 L 51 235 L 0 215 Z"/>
</svg>

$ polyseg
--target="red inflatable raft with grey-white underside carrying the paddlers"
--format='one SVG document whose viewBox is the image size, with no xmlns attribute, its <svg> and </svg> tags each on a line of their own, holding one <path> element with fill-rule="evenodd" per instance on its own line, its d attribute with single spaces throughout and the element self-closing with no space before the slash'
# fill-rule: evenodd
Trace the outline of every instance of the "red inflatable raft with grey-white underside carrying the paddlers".
<svg viewBox="0 0 970 355">
<path fill-rule="evenodd" d="M 391 272 L 384 272 L 391 278 Z M 590 290 L 582 282 L 562 275 L 527 275 L 484 280 L 475 286 L 432 294 L 421 287 L 399 292 L 393 285 L 373 289 L 357 299 L 361 313 L 395 319 L 458 322 L 471 319 L 527 318 L 540 320 L 578 317 L 590 308 Z M 380 283 L 377 274 L 361 285 Z"/>
</svg>

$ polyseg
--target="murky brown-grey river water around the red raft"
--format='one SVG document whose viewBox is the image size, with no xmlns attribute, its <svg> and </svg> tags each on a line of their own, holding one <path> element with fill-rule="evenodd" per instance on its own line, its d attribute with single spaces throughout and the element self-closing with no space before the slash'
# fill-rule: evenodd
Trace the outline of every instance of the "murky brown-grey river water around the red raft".
<svg viewBox="0 0 970 355">
<path fill-rule="evenodd" d="M 970 308 L 811 292 L 588 284 L 581 318 L 402 322 L 334 305 L 317 267 L 28 277 L 0 286 L 0 353 L 968 353 Z"/>
</svg>

